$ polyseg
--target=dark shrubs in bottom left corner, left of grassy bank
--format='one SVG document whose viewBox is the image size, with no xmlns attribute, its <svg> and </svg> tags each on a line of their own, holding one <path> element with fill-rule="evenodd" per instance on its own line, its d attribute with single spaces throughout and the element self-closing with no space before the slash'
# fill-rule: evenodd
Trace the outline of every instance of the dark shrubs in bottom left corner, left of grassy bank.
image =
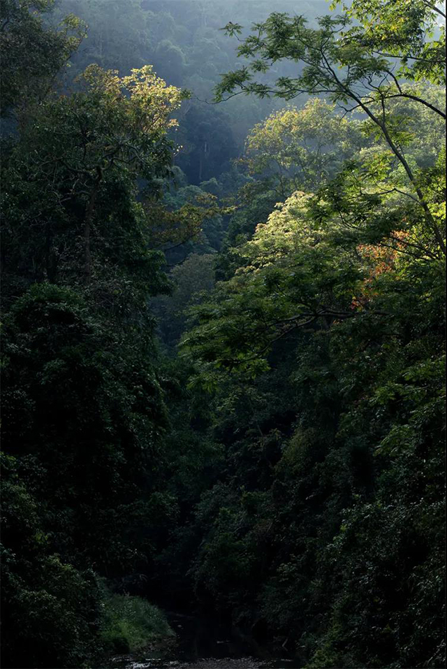
<svg viewBox="0 0 447 669">
<path fill-rule="evenodd" d="M 100 621 L 94 573 L 54 554 L 17 460 L 1 457 L 2 665 L 91 666 Z"/>
</svg>

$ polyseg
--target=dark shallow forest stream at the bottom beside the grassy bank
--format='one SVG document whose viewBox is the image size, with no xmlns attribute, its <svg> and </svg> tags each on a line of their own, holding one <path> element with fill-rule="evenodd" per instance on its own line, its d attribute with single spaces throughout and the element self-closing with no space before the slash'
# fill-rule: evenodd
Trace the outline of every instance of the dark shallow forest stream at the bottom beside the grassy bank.
<svg viewBox="0 0 447 669">
<path fill-rule="evenodd" d="M 113 669 L 299 668 L 295 661 L 284 657 L 284 649 L 266 649 L 254 639 L 228 633 L 203 618 L 168 614 L 168 619 L 176 633 L 176 641 L 168 650 L 115 656 Z"/>
</svg>

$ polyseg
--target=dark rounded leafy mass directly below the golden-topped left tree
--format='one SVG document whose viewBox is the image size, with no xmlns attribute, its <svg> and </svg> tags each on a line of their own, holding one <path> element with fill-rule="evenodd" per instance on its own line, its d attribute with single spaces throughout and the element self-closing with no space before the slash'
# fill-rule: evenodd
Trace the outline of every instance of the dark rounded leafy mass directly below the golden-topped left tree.
<svg viewBox="0 0 447 669">
<path fill-rule="evenodd" d="M 113 573 L 130 559 L 122 537 L 165 419 L 159 384 L 138 355 L 115 354 L 67 289 L 32 287 L 8 320 L 3 448 L 22 456 L 22 475 L 45 499 L 57 550 Z"/>
</svg>

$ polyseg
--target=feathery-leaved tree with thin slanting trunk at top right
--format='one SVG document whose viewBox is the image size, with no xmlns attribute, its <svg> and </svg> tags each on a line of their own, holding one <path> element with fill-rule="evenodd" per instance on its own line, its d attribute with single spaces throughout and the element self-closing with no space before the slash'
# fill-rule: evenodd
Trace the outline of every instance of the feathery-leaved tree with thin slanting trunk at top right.
<svg viewBox="0 0 447 669">
<path fill-rule="evenodd" d="M 419 7 L 419 0 L 415 0 Z M 391 3 L 390 3 L 391 4 Z M 425 224 L 437 240 L 439 250 L 445 254 L 446 245 L 441 228 L 442 221 L 432 213 L 427 202 L 427 193 L 420 183 L 418 173 L 413 171 L 400 143 L 399 128 L 393 124 L 390 103 L 395 99 L 409 99 L 429 108 L 434 115 L 445 118 L 444 111 L 432 104 L 423 92 L 415 90 L 395 74 L 395 59 L 407 61 L 410 57 L 418 58 L 424 52 L 425 27 L 433 22 L 433 6 L 418 13 L 418 26 L 408 38 L 406 27 L 399 28 L 406 35 L 404 55 L 386 55 L 381 51 L 381 29 L 362 32 L 358 28 L 350 29 L 348 15 L 322 17 L 318 20 L 318 29 L 308 28 L 302 16 L 288 17 L 286 14 L 273 13 L 268 20 L 256 24 L 256 32 L 242 41 L 239 55 L 251 59 L 249 65 L 223 76 L 216 88 L 216 99 L 221 101 L 238 93 L 253 93 L 260 97 L 279 96 L 291 100 L 299 94 L 325 94 L 339 104 L 346 113 L 358 110 L 379 130 L 397 161 L 400 162 L 413 194 L 423 210 Z M 390 6 L 390 5 L 389 5 Z M 413 3 L 411 3 L 413 6 Z M 395 16 L 396 14 L 393 14 Z M 366 19 L 365 19 L 366 22 Z M 373 27 L 378 22 L 373 22 Z M 239 24 L 228 24 L 228 34 L 240 34 Z M 365 35 L 365 39 L 363 38 Z M 398 33 L 400 36 L 400 34 Z M 437 57 L 428 59 L 424 77 L 439 82 L 439 49 Z M 254 80 L 257 73 L 267 73 L 272 65 L 281 59 L 288 59 L 295 64 L 303 64 L 302 73 L 296 77 L 284 76 L 269 85 Z M 404 63 L 403 63 L 404 64 Z"/>
</svg>

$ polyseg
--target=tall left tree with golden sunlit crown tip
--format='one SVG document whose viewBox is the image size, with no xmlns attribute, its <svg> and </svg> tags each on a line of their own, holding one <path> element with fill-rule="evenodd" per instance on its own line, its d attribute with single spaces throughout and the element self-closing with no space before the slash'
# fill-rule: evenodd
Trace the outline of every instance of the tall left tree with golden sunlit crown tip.
<svg viewBox="0 0 447 669">
<path fill-rule="evenodd" d="M 163 262 L 147 247 L 136 179 L 149 196 L 159 193 L 170 164 L 166 131 L 183 94 L 150 66 L 121 79 L 91 66 L 83 82 L 84 91 L 48 101 L 4 161 L 3 271 L 11 281 L 83 284 L 130 309 L 130 285 L 124 280 L 119 296 L 117 275 L 131 271 L 133 289 L 139 277 L 145 291 Z"/>
</svg>

